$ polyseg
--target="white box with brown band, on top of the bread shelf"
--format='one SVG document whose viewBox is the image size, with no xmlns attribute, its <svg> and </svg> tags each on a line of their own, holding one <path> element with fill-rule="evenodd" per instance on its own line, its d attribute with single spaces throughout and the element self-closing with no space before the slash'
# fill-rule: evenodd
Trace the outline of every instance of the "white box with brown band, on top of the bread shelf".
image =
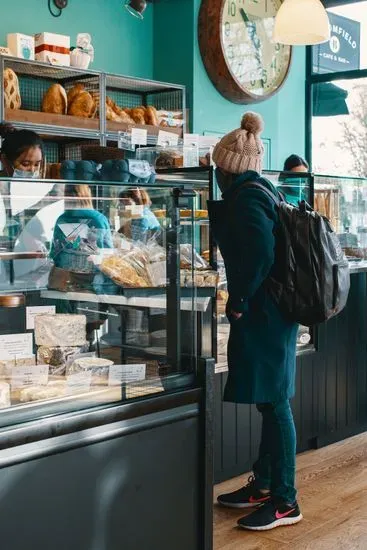
<svg viewBox="0 0 367 550">
<path fill-rule="evenodd" d="M 70 36 L 41 32 L 34 40 L 37 61 L 70 67 Z"/>
</svg>

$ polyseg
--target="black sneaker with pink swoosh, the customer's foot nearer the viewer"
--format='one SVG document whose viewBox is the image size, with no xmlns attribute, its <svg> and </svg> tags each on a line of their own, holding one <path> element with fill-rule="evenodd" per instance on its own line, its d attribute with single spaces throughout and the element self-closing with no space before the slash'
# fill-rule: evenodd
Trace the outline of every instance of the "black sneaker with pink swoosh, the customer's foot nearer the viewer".
<svg viewBox="0 0 367 550">
<path fill-rule="evenodd" d="M 258 510 L 238 520 L 242 529 L 250 531 L 269 531 L 282 525 L 294 525 L 303 519 L 297 502 L 294 504 L 276 505 L 273 501 L 267 502 Z"/>
</svg>

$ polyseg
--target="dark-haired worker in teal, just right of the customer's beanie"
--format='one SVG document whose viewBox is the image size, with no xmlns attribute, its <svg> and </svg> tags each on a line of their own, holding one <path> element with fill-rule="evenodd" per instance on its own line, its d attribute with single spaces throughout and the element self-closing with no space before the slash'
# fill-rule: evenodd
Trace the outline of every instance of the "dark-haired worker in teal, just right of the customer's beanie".
<svg viewBox="0 0 367 550">
<path fill-rule="evenodd" d="M 308 180 L 302 176 L 309 171 L 309 165 L 299 155 L 290 155 L 284 162 L 283 172 L 279 176 L 278 190 L 285 199 L 296 206 L 299 201 L 308 201 Z"/>
</svg>

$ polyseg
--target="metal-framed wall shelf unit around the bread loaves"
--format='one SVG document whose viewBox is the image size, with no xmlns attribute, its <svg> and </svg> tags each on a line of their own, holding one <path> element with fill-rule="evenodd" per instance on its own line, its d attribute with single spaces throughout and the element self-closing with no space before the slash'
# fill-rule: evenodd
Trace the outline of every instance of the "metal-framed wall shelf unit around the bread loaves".
<svg viewBox="0 0 367 550">
<path fill-rule="evenodd" d="M 99 93 L 100 97 L 100 114 L 99 120 L 85 119 L 85 127 L 78 127 L 62 124 L 48 124 L 35 122 L 32 120 L 22 120 L 19 111 L 11 111 L 12 116 L 8 118 L 4 107 L 4 88 L 0 86 L 0 121 L 11 123 L 16 128 L 26 128 L 36 131 L 43 136 L 55 137 L 59 139 L 69 139 L 71 142 L 76 140 L 98 140 L 100 145 L 106 145 L 107 142 L 117 142 L 118 132 L 126 132 L 134 127 L 134 125 L 124 123 L 113 123 L 113 129 L 109 129 L 109 123 L 106 120 L 106 95 L 107 91 L 111 93 L 112 98 L 116 103 L 121 103 L 121 107 L 136 107 L 138 105 L 156 104 L 158 108 L 166 110 L 182 110 L 183 113 L 183 128 L 182 132 L 186 131 L 186 88 L 179 84 L 169 84 L 143 78 L 133 78 L 129 76 L 116 75 L 94 70 L 81 70 L 74 67 L 53 66 L 47 63 L 38 61 L 27 61 L 15 57 L 0 56 L 0 78 L 3 82 L 4 70 L 11 68 L 20 77 L 21 95 L 26 98 L 26 104 L 34 107 L 35 101 L 38 102 L 38 108 L 25 109 L 29 112 L 40 113 L 40 102 L 43 93 L 47 90 L 51 83 L 59 83 L 66 88 L 71 87 L 76 82 L 83 82 L 86 89 Z M 22 82 L 22 77 L 31 80 L 31 85 L 28 86 Z M 37 96 L 37 97 L 36 97 Z M 24 103 L 24 102 L 23 102 Z M 52 116 L 52 115 L 51 115 Z M 65 116 L 66 115 L 60 115 Z M 69 116 L 69 115 L 68 115 Z M 32 118 L 32 117 L 31 117 Z M 37 118 L 37 117 L 36 117 Z M 51 117 L 48 117 L 51 118 Z M 55 118 L 55 117 L 54 117 Z M 71 121 L 70 117 L 70 121 Z M 33 117 L 34 119 L 34 117 Z M 67 120 L 67 119 L 65 119 Z M 60 119 L 62 121 L 62 118 Z M 79 122 L 81 122 L 79 120 Z M 177 131 L 172 128 L 161 128 L 153 126 L 137 126 L 146 127 L 148 130 L 148 144 L 155 145 L 157 143 L 157 135 L 159 129 L 173 132 Z"/>
</svg>

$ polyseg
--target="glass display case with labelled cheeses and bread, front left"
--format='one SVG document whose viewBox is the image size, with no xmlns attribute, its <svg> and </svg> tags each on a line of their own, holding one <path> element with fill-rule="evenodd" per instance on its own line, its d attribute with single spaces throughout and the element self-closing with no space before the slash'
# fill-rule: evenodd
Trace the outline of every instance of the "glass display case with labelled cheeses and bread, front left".
<svg viewBox="0 0 367 550">
<path fill-rule="evenodd" d="M 160 177 L 1 181 L 0 425 L 195 385 L 217 285 L 197 201 Z"/>
</svg>

